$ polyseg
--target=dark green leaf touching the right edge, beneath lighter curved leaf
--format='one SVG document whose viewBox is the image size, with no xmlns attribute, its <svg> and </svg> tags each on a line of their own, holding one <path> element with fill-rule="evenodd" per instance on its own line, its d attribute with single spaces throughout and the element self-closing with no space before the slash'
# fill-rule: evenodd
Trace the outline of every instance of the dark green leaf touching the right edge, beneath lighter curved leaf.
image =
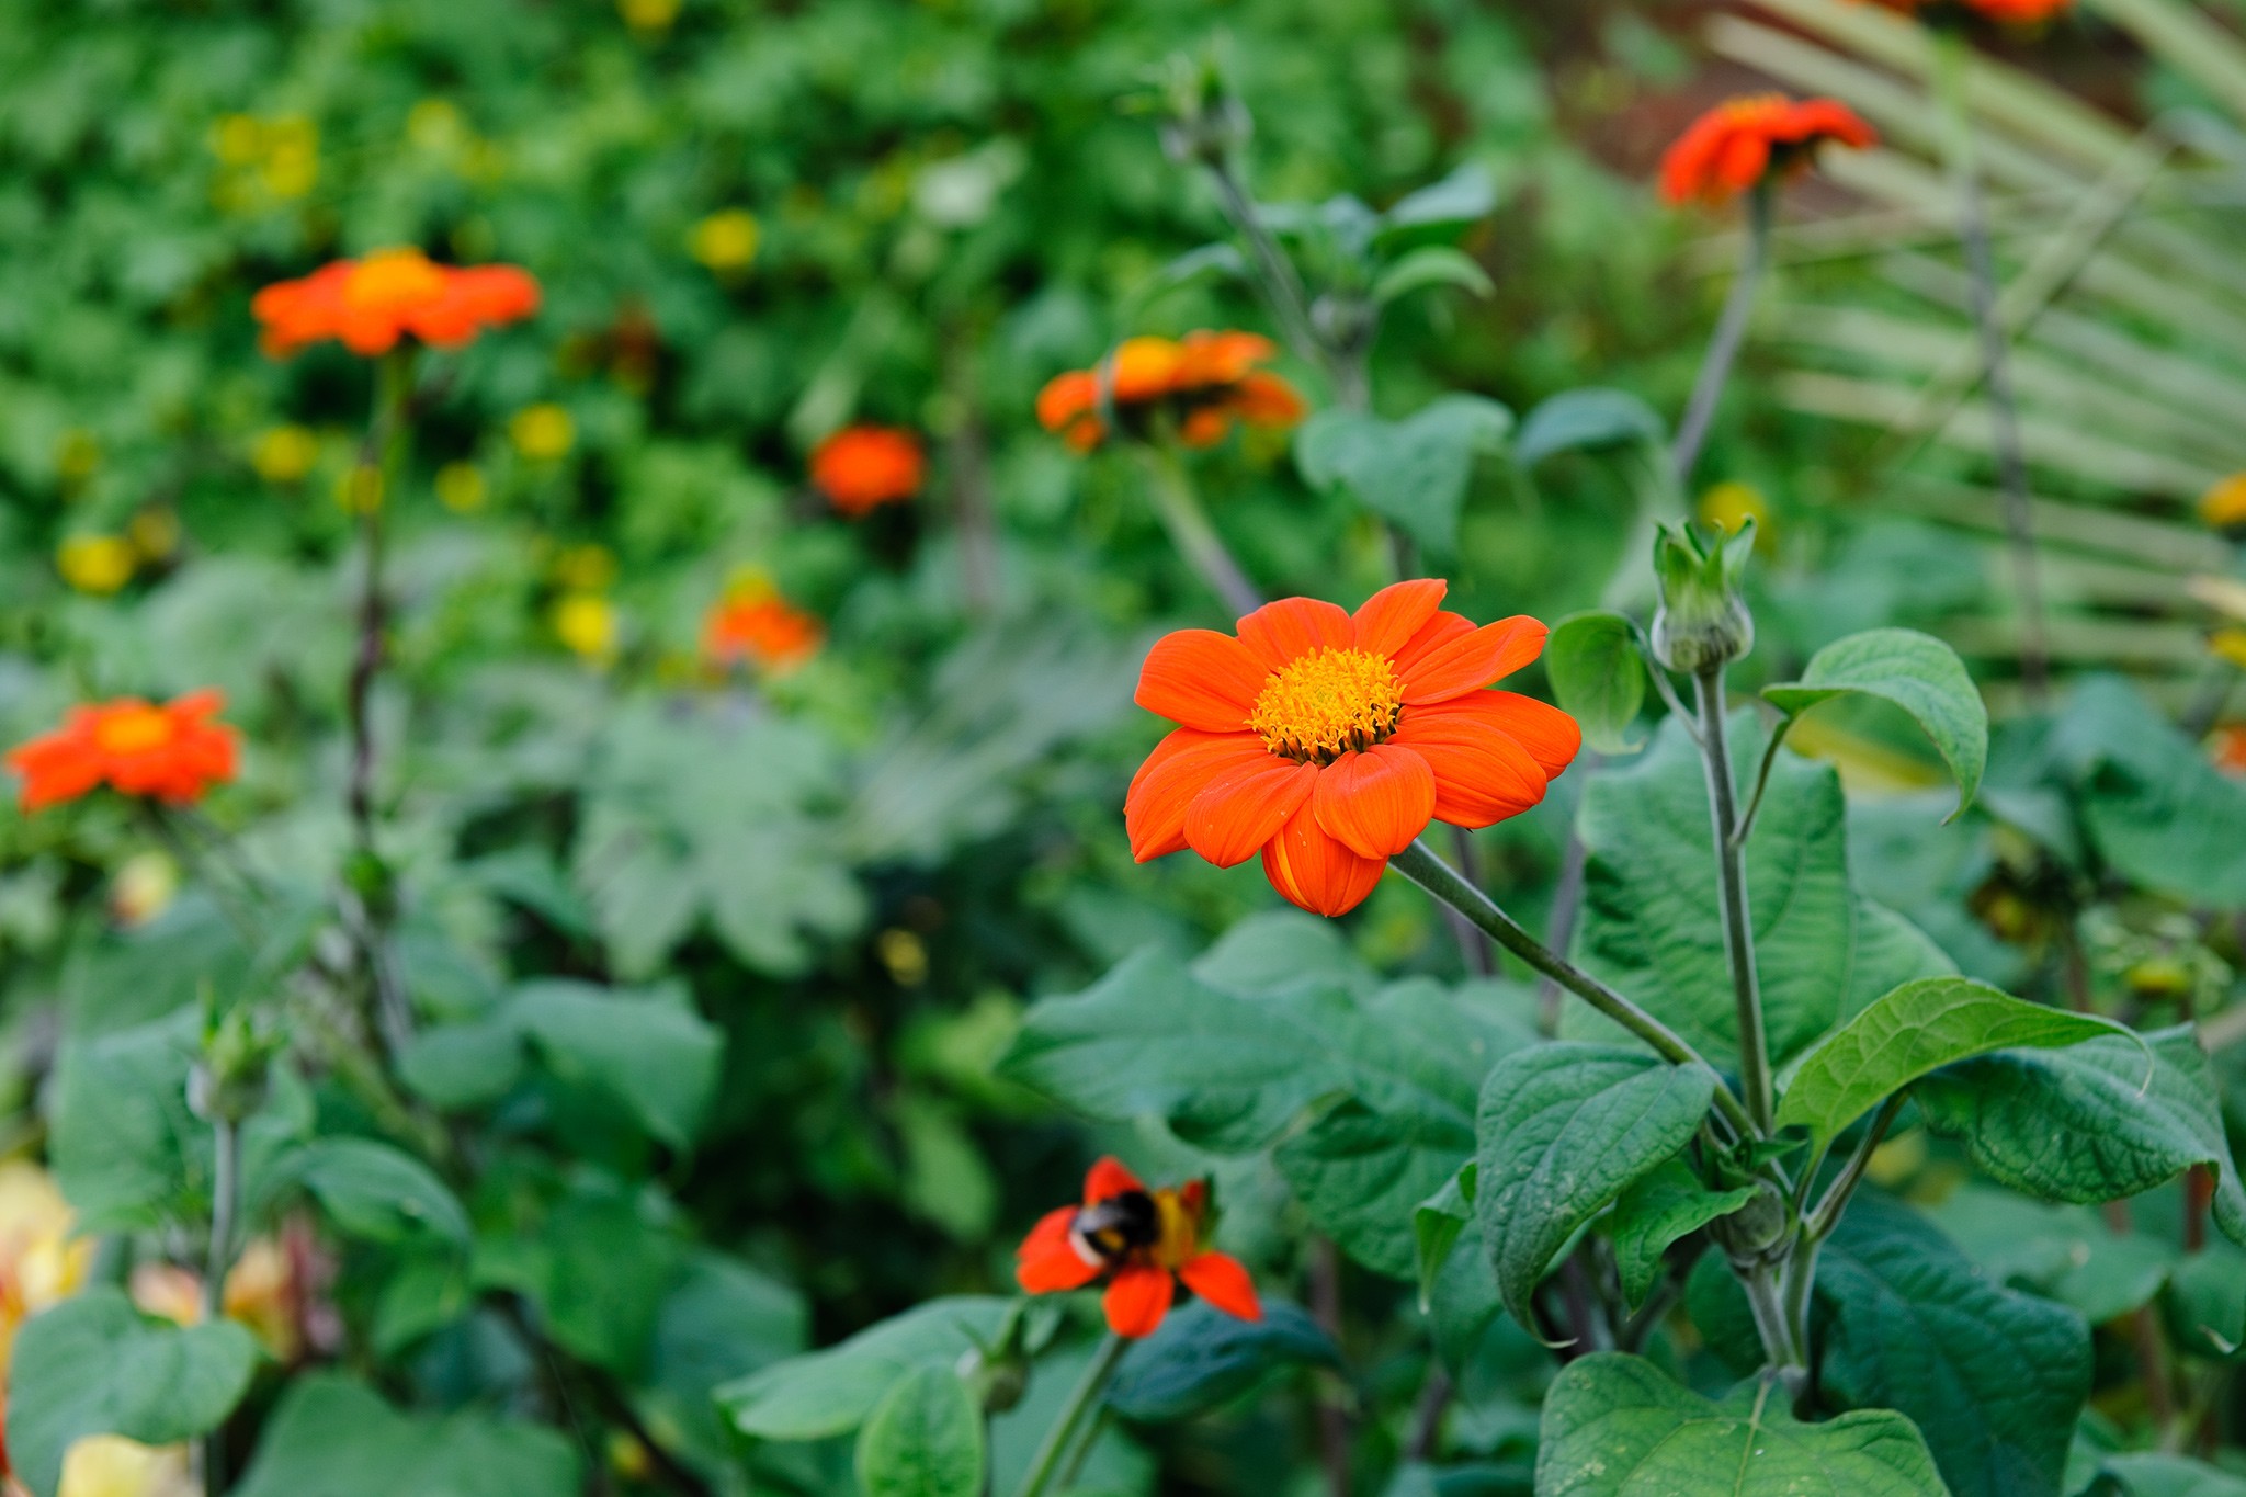
<svg viewBox="0 0 2246 1497">
<path fill-rule="evenodd" d="M 1990 1178 L 2044 1201 L 2118 1201 L 2208 1165 L 2215 1221 L 2246 1246 L 2246 1190 L 2192 1026 L 1988 1055 L 1927 1077 L 1916 1098 Z"/>
</svg>

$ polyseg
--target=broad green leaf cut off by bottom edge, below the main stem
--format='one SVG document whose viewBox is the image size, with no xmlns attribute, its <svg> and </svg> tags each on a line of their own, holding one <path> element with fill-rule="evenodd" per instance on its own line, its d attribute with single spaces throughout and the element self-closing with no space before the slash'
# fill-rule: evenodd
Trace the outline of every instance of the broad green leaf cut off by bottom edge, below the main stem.
<svg viewBox="0 0 2246 1497">
<path fill-rule="evenodd" d="M 1918 1430 L 1864 1409 L 1806 1425 L 1770 1380 L 1711 1403 L 1617 1351 L 1568 1362 L 1545 1396 L 1543 1497 L 1950 1497 Z"/>
</svg>

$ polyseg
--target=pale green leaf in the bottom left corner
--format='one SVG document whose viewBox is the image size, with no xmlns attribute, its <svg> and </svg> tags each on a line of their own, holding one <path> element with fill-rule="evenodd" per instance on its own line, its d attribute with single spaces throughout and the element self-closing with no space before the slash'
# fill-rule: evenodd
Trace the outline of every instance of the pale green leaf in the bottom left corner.
<svg viewBox="0 0 2246 1497">
<path fill-rule="evenodd" d="M 54 1497 L 88 1434 L 173 1445 L 216 1430 L 249 1389 L 256 1338 L 231 1320 L 177 1326 L 90 1288 L 31 1317 L 9 1371 L 7 1452 L 34 1497 Z"/>
</svg>

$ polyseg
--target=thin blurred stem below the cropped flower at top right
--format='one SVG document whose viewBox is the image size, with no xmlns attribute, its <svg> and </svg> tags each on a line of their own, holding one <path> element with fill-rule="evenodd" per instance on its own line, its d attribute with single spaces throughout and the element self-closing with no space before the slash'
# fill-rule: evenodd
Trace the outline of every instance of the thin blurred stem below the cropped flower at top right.
<svg viewBox="0 0 2246 1497">
<path fill-rule="evenodd" d="M 2019 682 L 2030 707 L 2051 691 L 2051 646 L 2044 640 L 2044 581 L 2035 557 L 2035 512 L 2028 498 L 2028 458 L 2019 442 L 2019 399 L 2012 391 L 2012 352 L 1997 310 L 1997 256 L 1988 238 L 1988 204 L 1981 198 L 1981 166 L 1974 150 L 1972 45 L 1945 27 L 1934 34 L 1934 94 L 1943 112 L 1943 155 L 1959 200 L 1959 242 L 1965 249 L 1965 285 L 1972 296 L 1974 332 L 1981 337 L 1981 379 L 1988 386 L 1990 442 L 1997 485 L 2003 492 L 2003 530 L 2012 552 L 2012 586 L 2019 590 Z"/>
</svg>

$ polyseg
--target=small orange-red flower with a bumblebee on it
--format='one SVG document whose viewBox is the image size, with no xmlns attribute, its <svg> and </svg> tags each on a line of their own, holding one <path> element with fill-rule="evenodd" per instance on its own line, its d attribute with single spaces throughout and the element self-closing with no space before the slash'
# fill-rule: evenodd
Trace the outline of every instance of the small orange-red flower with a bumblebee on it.
<svg viewBox="0 0 2246 1497">
<path fill-rule="evenodd" d="M 1114 1158 L 1092 1165 L 1085 1203 L 1047 1212 L 1015 1252 L 1015 1279 L 1031 1295 L 1083 1288 L 1110 1275 L 1105 1311 L 1116 1335 L 1152 1335 L 1177 1297 L 1175 1284 L 1240 1320 L 1262 1320 L 1256 1284 L 1240 1259 L 1202 1248 L 1208 1185 L 1148 1190 Z"/>
</svg>

